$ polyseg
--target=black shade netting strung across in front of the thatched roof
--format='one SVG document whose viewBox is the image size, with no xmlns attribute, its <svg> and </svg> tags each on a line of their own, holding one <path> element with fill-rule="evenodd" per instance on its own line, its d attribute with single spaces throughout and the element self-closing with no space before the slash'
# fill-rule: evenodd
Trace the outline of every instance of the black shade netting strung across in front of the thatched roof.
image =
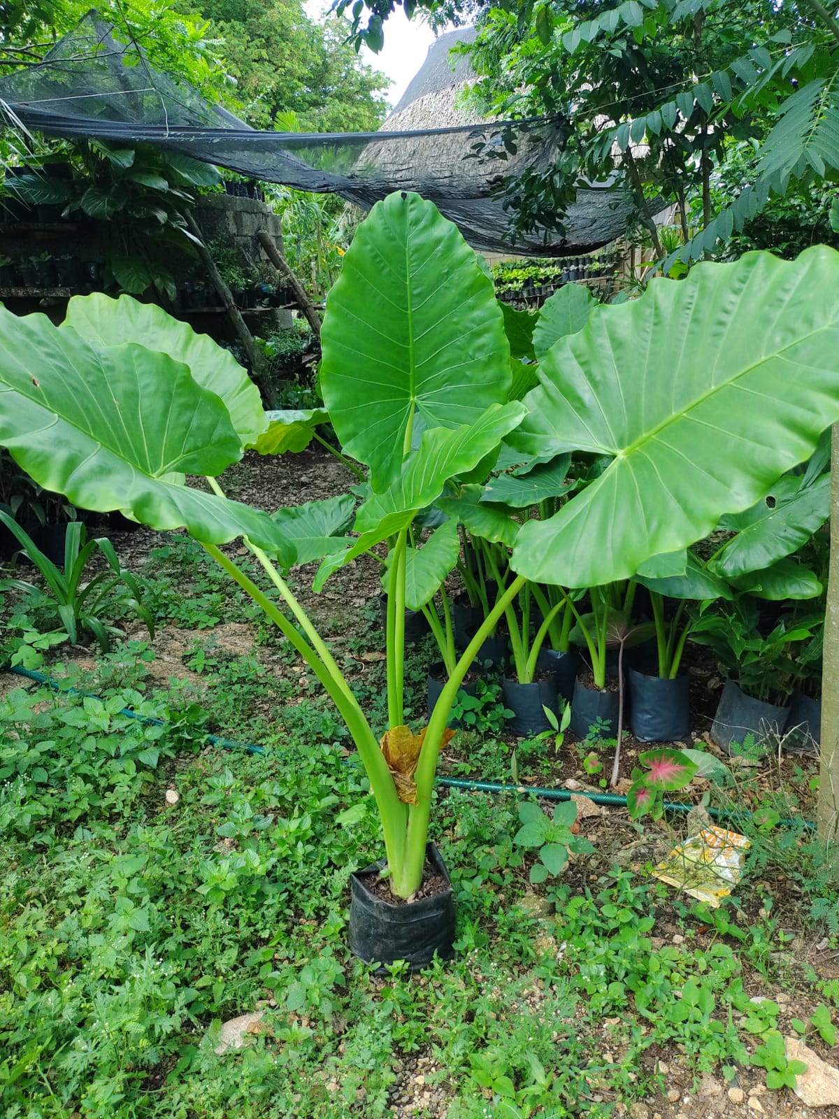
<svg viewBox="0 0 839 1119">
<path fill-rule="evenodd" d="M 143 51 L 120 41 L 117 34 L 89 12 L 41 63 L 2 78 L 0 110 L 7 122 L 67 139 L 158 144 L 253 179 L 338 194 L 364 208 L 393 190 L 415 190 L 434 201 L 473 247 L 488 252 L 565 255 L 596 248 L 625 229 L 626 199 L 593 188 L 579 191 L 564 232 L 519 235 L 513 244 L 505 209 L 507 181 L 548 170 L 562 150 L 567 122 L 359 133 L 257 131 L 152 68 Z M 421 102 L 426 121 L 451 117 L 455 75 L 440 64 L 450 38 L 441 37 L 432 48 L 392 121 Z M 431 79 L 422 79 L 424 73 Z M 511 135 L 513 152 L 505 143 Z"/>
</svg>

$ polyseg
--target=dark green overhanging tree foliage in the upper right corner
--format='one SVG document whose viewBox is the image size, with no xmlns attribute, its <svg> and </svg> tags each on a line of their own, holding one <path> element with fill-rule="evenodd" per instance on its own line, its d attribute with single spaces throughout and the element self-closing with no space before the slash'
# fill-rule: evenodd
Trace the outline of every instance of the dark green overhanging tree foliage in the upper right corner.
<svg viewBox="0 0 839 1119">
<path fill-rule="evenodd" d="M 774 199 L 812 204 L 816 192 L 820 205 L 839 172 L 839 23 L 819 0 L 365 6 L 352 6 L 353 30 L 374 49 L 397 6 L 408 15 L 422 8 L 437 23 L 474 20 L 478 37 L 463 49 L 483 75 L 473 93 L 481 107 L 572 122 L 556 168 L 511 185 L 519 226 L 560 223 L 583 172 L 633 192 L 658 255 L 673 246 L 659 238 L 651 211 L 672 204 L 686 243 L 676 247 L 689 263 Z M 334 7 L 350 8 L 348 0 Z M 723 197 L 732 152 L 742 179 Z"/>
</svg>

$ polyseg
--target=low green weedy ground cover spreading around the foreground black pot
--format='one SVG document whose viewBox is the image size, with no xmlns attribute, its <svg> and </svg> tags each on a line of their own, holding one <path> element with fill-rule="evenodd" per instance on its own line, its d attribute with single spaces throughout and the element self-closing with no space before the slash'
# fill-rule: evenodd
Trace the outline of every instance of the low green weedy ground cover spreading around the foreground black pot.
<svg viewBox="0 0 839 1119">
<path fill-rule="evenodd" d="M 159 543 L 141 537 L 139 555 Z M 760 782 L 744 771 L 730 790 L 732 811 L 761 811 L 739 825 L 747 874 L 716 912 L 649 873 L 678 819 L 581 817 L 560 867 L 522 841 L 531 798 L 440 790 L 456 957 L 377 979 L 346 950 L 348 873 L 378 849 L 346 731 L 183 543 L 140 562 L 152 645 L 75 667 L 47 652 L 101 699 L 32 686 L 0 700 L 8 1115 L 605 1117 L 645 1101 L 669 1117 L 681 1104 L 667 1092 L 681 1099 L 703 1074 L 724 1093 L 771 1074 L 764 1110 L 795 1115 L 777 1037 L 803 1031 L 829 1056 L 839 1021 L 835 867 L 802 827 L 779 826 L 810 811 L 805 762 Z M 321 600 L 324 617 L 334 602 Z M 364 629 L 334 617 L 334 648 L 384 725 L 373 591 L 362 613 Z M 177 653 L 168 632 L 186 638 Z M 406 709 L 425 702 L 427 656 L 408 653 Z M 209 730 L 265 753 L 208 747 Z M 596 788 L 586 768 L 609 750 L 568 736 L 557 754 L 486 725 L 460 737 L 444 772 L 507 780 L 516 764 L 525 787 Z M 220 1024 L 257 1007 L 265 1032 L 217 1055 Z"/>
</svg>

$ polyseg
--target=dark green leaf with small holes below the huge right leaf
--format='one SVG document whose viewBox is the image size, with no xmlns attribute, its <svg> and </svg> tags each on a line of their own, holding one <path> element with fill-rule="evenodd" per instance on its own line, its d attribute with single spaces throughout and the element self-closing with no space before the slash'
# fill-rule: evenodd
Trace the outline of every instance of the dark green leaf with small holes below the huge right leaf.
<svg viewBox="0 0 839 1119">
<path fill-rule="evenodd" d="M 779 478 L 751 508 L 723 517 L 719 527 L 737 535 L 708 566 L 726 579 L 761 572 L 796 552 L 829 515 L 830 474 L 809 485 L 795 474 Z"/>
</svg>

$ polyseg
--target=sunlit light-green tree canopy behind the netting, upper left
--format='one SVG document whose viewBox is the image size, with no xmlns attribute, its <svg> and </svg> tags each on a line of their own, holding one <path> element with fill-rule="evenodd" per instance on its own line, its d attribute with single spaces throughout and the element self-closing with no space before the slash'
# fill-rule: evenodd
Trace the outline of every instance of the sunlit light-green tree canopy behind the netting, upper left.
<svg viewBox="0 0 839 1119">
<path fill-rule="evenodd" d="M 0 6 L 0 73 L 39 62 L 89 0 Z M 381 122 L 388 81 L 346 44 L 345 20 L 311 20 L 302 0 L 103 0 L 117 38 L 256 128 L 294 112 L 304 131 L 367 131 Z M 282 123 L 282 122 L 281 122 Z"/>
</svg>

